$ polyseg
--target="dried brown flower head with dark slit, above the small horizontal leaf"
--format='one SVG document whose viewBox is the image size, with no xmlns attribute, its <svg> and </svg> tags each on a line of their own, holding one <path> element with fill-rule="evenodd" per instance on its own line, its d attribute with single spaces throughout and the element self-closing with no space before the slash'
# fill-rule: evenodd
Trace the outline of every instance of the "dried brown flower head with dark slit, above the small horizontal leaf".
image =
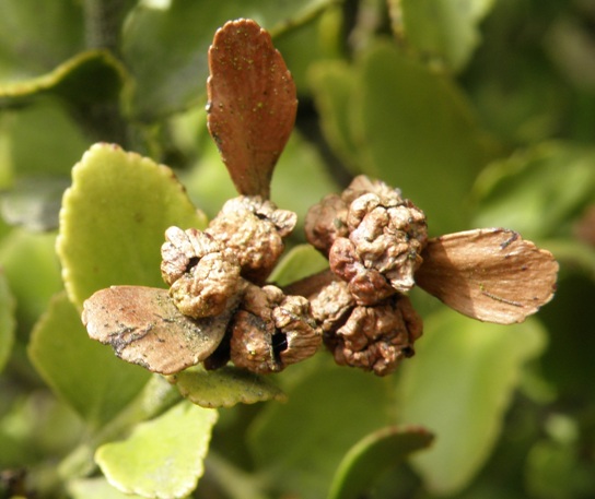
<svg viewBox="0 0 595 499">
<path fill-rule="evenodd" d="M 231 359 L 253 372 L 278 372 L 316 353 L 320 332 L 301 296 L 249 285 L 231 324 Z"/>
</svg>

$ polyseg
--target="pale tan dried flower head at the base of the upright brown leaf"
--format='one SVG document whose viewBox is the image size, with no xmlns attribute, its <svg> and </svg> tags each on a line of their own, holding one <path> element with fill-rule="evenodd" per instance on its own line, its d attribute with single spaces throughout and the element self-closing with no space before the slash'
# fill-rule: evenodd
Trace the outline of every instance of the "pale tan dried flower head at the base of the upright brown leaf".
<svg viewBox="0 0 595 499">
<path fill-rule="evenodd" d="M 283 238 L 296 219 L 295 213 L 278 210 L 271 201 L 242 195 L 228 201 L 205 231 L 233 251 L 243 277 L 260 284 L 277 264 Z"/>
</svg>

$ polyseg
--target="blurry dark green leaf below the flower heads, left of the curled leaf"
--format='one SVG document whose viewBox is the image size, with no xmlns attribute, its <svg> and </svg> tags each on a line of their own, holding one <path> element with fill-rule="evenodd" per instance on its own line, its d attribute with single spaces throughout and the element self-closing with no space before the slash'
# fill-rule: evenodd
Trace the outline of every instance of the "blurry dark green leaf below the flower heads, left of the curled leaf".
<svg viewBox="0 0 595 499">
<path fill-rule="evenodd" d="M 248 433 L 266 476 L 305 499 L 324 497 L 346 452 L 390 423 L 389 380 L 329 365 L 288 387 L 289 402 L 266 407 Z"/>
</svg>

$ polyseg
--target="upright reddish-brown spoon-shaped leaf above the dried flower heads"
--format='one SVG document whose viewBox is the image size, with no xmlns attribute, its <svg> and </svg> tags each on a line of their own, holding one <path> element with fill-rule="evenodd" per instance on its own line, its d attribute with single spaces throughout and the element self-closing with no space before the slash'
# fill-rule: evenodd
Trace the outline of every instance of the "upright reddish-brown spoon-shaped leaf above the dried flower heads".
<svg viewBox="0 0 595 499">
<path fill-rule="evenodd" d="M 209 131 L 241 194 L 269 198 L 295 121 L 295 84 L 270 35 L 252 20 L 218 29 L 209 49 Z"/>
</svg>

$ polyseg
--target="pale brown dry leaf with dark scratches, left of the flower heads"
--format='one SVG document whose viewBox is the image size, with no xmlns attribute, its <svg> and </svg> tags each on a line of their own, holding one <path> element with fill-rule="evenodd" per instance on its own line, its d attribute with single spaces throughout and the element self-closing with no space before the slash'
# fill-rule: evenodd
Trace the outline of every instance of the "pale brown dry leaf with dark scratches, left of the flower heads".
<svg viewBox="0 0 595 499">
<path fill-rule="evenodd" d="M 172 375 L 213 353 L 229 316 L 192 320 L 166 289 L 112 286 L 84 302 L 82 321 L 93 340 L 112 345 L 121 359 Z"/>
</svg>

